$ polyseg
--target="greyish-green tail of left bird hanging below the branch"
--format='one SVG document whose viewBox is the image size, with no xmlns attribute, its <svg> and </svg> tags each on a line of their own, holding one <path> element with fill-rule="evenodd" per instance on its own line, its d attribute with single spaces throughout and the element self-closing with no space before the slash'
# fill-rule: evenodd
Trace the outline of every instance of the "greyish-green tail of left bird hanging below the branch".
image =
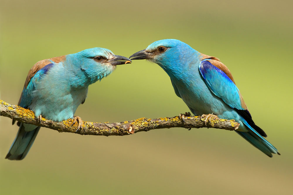
<svg viewBox="0 0 293 195">
<path fill-rule="evenodd" d="M 33 145 L 40 128 L 35 125 L 21 123 L 16 138 L 5 158 L 9 160 L 22 160 Z"/>
</svg>

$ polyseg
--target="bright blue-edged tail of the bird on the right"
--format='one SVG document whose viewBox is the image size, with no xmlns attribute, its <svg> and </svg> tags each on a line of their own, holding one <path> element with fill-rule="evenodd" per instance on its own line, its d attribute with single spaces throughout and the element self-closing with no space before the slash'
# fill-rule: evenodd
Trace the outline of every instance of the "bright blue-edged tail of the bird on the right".
<svg viewBox="0 0 293 195">
<path fill-rule="evenodd" d="M 241 137 L 246 139 L 249 143 L 255 146 L 257 149 L 268 155 L 269 157 L 273 157 L 272 153 L 279 154 L 278 150 L 270 144 L 265 138 L 263 138 L 258 132 L 256 132 L 245 120 L 242 120 L 243 124 L 247 127 L 248 132 L 235 131 Z"/>
</svg>

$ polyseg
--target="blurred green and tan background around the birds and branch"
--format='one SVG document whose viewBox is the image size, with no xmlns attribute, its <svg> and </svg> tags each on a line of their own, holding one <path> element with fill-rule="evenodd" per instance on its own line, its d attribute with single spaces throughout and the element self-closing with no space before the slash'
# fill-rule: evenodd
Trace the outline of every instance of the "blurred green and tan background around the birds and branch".
<svg viewBox="0 0 293 195">
<path fill-rule="evenodd" d="M 292 194 L 293 1 L 1 1 L 1 99 L 17 104 L 39 60 L 104 47 L 130 56 L 179 39 L 228 66 L 257 125 L 282 154 L 234 132 L 171 128 L 102 137 L 41 128 L 23 161 L 5 160 L 18 127 L 0 118 L 1 194 Z M 144 60 L 89 87 L 75 115 L 120 122 L 188 111 Z M 94 114 L 93 114 L 94 113 Z"/>
</svg>

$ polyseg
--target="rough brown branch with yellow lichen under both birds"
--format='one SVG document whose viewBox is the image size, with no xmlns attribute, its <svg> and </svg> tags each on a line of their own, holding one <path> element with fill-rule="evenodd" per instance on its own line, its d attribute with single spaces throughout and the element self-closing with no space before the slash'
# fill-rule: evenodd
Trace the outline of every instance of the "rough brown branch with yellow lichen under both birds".
<svg viewBox="0 0 293 195">
<path fill-rule="evenodd" d="M 29 123 L 41 127 L 47 127 L 59 132 L 71 132 L 81 135 L 130 135 L 140 131 L 149 131 L 152 129 L 163 129 L 171 127 L 183 128 L 201 128 L 210 127 L 225 130 L 235 130 L 239 127 L 239 123 L 234 120 L 226 120 L 219 118 L 210 118 L 205 123 L 204 119 L 200 116 L 191 116 L 179 118 L 179 116 L 171 118 L 156 118 L 147 119 L 139 118 L 132 121 L 124 122 L 86 122 L 83 121 L 83 126 L 80 130 L 76 131 L 78 123 L 73 124 L 73 119 L 68 119 L 62 122 L 54 122 L 42 118 L 41 122 L 35 119 L 33 111 L 22 108 L 20 106 L 8 104 L 0 100 L 0 115 L 13 118 L 20 122 Z"/>
</svg>

